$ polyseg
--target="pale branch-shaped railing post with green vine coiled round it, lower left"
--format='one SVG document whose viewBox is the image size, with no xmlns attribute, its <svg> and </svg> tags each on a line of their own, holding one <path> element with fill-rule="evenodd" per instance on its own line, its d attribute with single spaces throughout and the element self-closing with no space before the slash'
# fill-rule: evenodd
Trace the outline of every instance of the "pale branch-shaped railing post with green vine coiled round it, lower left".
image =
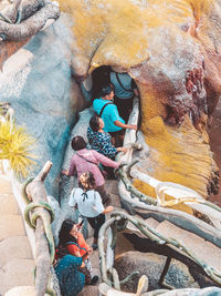
<svg viewBox="0 0 221 296">
<path fill-rule="evenodd" d="M 51 167 L 52 163 L 48 161 L 36 177 L 28 180 L 22 188 L 23 197 L 28 203 L 24 220 L 35 234 L 35 290 L 38 296 L 43 296 L 45 292 L 55 295 L 48 288 L 50 268 L 54 258 L 54 241 L 51 232 L 54 214 L 46 203 L 44 180 Z"/>
</svg>

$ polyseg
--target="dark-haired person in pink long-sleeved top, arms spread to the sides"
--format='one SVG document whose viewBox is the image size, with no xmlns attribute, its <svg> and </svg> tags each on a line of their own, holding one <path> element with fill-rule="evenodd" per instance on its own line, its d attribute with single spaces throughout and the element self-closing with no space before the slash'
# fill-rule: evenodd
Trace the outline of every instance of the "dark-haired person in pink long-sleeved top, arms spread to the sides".
<svg viewBox="0 0 221 296">
<path fill-rule="evenodd" d="M 120 163 L 112 161 L 95 150 L 86 149 L 86 142 L 80 135 L 72 139 L 72 149 L 76 151 L 76 154 L 71 159 L 70 169 L 62 171 L 62 174 L 73 176 L 77 173 L 77 178 L 80 178 L 83 173 L 92 172 L 95 177 L 95 190 L 102 196 L 103 204 L 109 204 L 110 196 L 106 192 L 105 180 L 98 164 L 118 169 Z"/>
</svg>

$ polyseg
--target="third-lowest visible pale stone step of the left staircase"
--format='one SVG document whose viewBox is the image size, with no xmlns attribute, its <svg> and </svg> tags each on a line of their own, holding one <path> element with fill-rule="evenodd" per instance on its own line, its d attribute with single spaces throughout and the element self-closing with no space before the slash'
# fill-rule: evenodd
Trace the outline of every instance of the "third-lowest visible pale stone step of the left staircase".
<svg viewBox="0 0 221 296">
<path fill-rule="evenodd" d="M 25 231 L 21 215 L 0 215 L 0 241 L 22 235 L 25 235 Z"/>
</svg>

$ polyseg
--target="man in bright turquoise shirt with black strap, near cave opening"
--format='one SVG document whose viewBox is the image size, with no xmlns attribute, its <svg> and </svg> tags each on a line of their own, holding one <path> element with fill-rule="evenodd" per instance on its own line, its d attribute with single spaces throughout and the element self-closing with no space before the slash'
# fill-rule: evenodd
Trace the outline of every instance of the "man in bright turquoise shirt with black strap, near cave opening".
<svg viewBox="0 0 221 296">
<path fill-rule="evenodd" d="M 94 111 L 104 121 L 104 131 L 108 132 L 116 141 L 124 135 L 124 129 L 137 130 L 135 124 L 125 124 L 125 121 L 119 116 L 117 106 L 113 103 L 114 91 L 109 85 L 102 89 L 101 98 L 93 102 Z M 122 140 L 119 141 L 122 142 Z M 120 143 L 115 143 L 115 145 Z"/>
</svg>

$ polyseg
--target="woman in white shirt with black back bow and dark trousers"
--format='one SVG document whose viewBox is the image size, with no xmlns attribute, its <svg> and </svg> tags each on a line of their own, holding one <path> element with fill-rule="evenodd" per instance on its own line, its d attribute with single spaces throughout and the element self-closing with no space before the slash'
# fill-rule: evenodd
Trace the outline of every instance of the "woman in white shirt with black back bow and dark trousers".
<svg viewBox="0 0 221 296">
<path fill-rule="evenodd" d="M 98 232 L 105 223 L 105 214 L 114 210 L 113 206 L 104 207 L 102 197 L 95 191 L 95 180 L 91 172 L 83 173 L 80 178 L 80 186 L 71 193 L 69 205 L 76 207 L 80 214 L 85 217 L 94 229 L 94 242 L 92 247 L 97 248 Z"/>
</svg>

